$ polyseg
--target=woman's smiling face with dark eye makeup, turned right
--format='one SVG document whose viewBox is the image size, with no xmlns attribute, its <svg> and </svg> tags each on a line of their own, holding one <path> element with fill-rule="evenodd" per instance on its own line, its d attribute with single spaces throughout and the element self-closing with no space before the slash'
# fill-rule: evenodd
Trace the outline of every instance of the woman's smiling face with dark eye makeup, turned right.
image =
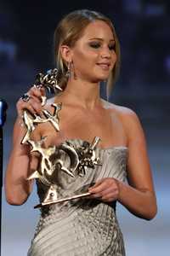
<svg viewBox="0 0 170 256">
<path fill-rule="evenodd" d="M 110 26 L 102 20 L 90 23 L 71 49 L 71 60 L 77 78 L 91 82 L 107 79 L 116 63 Z"/>
</svg>

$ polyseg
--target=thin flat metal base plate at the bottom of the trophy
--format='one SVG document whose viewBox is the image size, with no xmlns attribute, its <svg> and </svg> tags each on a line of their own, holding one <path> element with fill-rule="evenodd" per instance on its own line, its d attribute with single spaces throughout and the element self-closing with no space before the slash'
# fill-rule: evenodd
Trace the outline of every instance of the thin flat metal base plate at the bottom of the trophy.
<svg viewBox="0 0 170 256">
<path fill-rule="evenodd" d="M 57 200 L 43 201 L 41 204 L 38 204 L 37 206 L 35 206 L 34 209 L 39 208 L 39 207 L 44 207 L 44 206 L 57 204 L 57 203 L 64 202 L 64 201 L 71 201 L 73 199 L 82 198 L 82 197 L 85 197 L 85 196 L 88 196 L 88 195 L 91 195 L 91 193 L 87 192 L 87 193 L 83 193 L 83 194 L 79 194 L 79 195 L 71 195 L 71 196 L 60 198 L 60 199 L 57 199 Z"/>
</svg>

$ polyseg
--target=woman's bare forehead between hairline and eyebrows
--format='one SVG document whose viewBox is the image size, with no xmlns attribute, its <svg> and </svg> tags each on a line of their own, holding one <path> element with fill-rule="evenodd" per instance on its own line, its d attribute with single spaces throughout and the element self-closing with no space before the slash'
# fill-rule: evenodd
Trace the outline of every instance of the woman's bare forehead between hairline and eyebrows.
<svg viewBox="0 0 170 256">
<path fill-rule="evenodd" d="M 95 20 L 88 24 L 82 33 L 82 38 L 114 39 L 111 27 L 103 20 Z"/>
</svg>

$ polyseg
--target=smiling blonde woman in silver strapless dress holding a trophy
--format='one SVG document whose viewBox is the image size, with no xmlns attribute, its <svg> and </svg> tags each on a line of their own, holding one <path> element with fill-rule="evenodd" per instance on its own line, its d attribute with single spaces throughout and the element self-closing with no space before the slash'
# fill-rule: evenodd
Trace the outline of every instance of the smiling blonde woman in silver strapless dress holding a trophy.
<svg viewBox="0 0 170 256">
<path fill-rule="evenodd" d="M 100 137 L 95 154 L 102 166 L 95 166 L 93 172 L 88 168 L 84 178 L 67 180 L 64 172 L 60 174 L 65 175 L 66 185 L 72 190 L 88 185 L 90 195 L 42 207 L 28 255 L 125 255 L 116 220 L 116 201 L 139 218 L 151 219 L 156 215 L 156 195 L 137 115 L 99 96 L 100 82 L 107 80 L 109 95 L 119 69 L 115 29 L 104 15 L 79 10 L 59 22 L 54 43 L 63 92 L 52 102 L 62 102 L 60 130 L 56 132 L 50 123 L 44 123 L 37 125 L 32 137 L 35 141 L 46 137 L 46 148 L 65 142 L 78 148 Z M 17 103 L 14 147 L 6 173 L 6 197 L 13 205 L 23 204 L 30 195 L 32 183 L 26 178 L 37 170 L 39 161 L 36 154 L 30 154 L 29 146 L 20 144 L 26 133 L 20 117 L 24 109 L 42 114 L 44 90 L 32 87 L 28 95 L 28 102 L 20 99 Z M 53 112 L 50 104 L 46 108 Z M 42 201 L 47 188 L 37 180 L 37 189 Z M 61 189 L 62 193 L 65 189 Z"/>
</svg>

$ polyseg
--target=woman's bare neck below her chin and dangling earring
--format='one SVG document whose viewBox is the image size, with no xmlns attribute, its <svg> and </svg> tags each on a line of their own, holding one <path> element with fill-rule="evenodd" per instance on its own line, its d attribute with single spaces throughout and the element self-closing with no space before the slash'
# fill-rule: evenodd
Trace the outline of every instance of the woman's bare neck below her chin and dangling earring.
<svg viewBox="0 0 170 256">
<path fill-rule="evenodd" d="M 82 108 L 94 109 L 100 102 L 99 83 L 71 79 L 67 83 L 63 96 Z"/>
</svg>

